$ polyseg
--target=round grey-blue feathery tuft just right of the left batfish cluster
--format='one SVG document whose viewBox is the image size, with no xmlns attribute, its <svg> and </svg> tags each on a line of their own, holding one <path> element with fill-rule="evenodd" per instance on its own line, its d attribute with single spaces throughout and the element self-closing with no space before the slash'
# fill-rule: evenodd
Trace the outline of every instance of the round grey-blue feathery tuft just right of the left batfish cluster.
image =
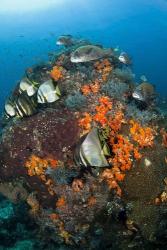
<svg viewBox="0 0 167 250">
<path fill-rule="evenodd" d="M 81 110 L 86 106 L 87 99 L 80 92 L 74 92 L 65 100 L 65 105 L 70 110 Z"/>
</svg>

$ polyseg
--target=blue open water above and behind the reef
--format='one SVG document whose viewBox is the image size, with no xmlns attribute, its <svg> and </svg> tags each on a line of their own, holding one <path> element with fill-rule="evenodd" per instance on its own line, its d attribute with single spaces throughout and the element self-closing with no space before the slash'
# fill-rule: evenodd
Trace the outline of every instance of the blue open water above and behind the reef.
<svg viewBox="0 0 167 250">
<path fill-rule="evenodd" d="M 56 51 L 61 34 L 119 46 L 140 75 L 167 95 L 165 0 L 20 0 L 0 3 L 0 110 L 25 68 Z"/>
</svg>

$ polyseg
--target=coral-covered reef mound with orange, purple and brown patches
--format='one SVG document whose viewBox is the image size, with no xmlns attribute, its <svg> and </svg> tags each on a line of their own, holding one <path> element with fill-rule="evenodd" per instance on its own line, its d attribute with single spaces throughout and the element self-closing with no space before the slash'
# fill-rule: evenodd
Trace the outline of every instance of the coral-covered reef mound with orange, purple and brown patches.
<svg viewBox="0 0 167 250">
<path fill-rule="evenodd" d="M 132 100 L 134 75 L 116 55 L 73 64 L 75 48 L 26 70 L 39 85 L 58 82 L 60 99 L 3 123 L 0 192 L 10 201 L 4 201 L 8 210 L 0 206 L 2 226 L 18 219 L 17 206 L 24 207 L 24 218 L 16 233 L 14 226 L 0 230 L 2 247 L 164 249 L 166 117 L 155 106 L 139 110 Z M 88 164 L 96 145 L 105 166 Z M 24 222 L 37 237 L 25 237 Z M 20 242 L 10 239 L 21 231 Z"/>
</svg>

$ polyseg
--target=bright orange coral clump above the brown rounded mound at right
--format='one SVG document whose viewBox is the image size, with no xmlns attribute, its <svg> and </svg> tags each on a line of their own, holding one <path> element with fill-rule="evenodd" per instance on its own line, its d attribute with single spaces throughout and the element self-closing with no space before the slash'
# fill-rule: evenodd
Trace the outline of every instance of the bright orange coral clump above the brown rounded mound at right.
<svg viewBox="0 0 167 250">
<path fill-rule="evenodd" d="M 130 121 L 131 128 L 130 133 L 135 142 L 139 144 L 141 148 L 152 147 L 154 145 L 155 131 L 150 127 L 142 127 L 138 122 Z"/>
</svg>

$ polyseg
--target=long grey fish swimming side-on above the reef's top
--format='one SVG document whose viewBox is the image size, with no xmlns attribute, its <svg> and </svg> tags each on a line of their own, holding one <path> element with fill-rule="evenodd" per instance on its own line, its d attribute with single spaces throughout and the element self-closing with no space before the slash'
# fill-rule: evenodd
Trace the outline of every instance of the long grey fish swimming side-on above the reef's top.
<svg viewBox="0 0 167 250">
<path fill-rule="evenodd" d="M 96 45 L 85 45 L 80 46 L 75 51 L 73 51 L 71 53 L 70 60 L 73 63 L 89 62 L 103 57 L 110 57 L 112 55 L 112 49 L 103 49 Z"/>
</svg>

